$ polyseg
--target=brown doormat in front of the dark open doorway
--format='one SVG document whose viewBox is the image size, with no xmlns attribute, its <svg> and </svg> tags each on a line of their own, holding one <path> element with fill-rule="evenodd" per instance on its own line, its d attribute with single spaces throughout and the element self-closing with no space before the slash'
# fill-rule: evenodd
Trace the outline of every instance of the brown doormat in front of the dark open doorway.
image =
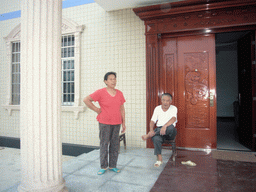
<svg viewBox="0 0 256 192">
<path fill-rule="evenodd" d="M 256 162 L 255 153 L 237 151 L 212 151 L 212 157 L 218 160 Z"/>
</svg>

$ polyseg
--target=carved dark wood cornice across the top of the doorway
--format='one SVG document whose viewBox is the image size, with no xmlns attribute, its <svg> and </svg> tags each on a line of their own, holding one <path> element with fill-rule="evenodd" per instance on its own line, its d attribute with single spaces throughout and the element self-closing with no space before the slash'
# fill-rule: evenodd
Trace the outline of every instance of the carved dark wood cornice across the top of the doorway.
<svg viewBox="0 0 256 192">
<path fill-rule="evenodd" d="M 193 3 L 194 2 L 194 3 Z M 133 9 L 145 21 L 146 35 L 256 25 L 254 0 L 181 1 Z"/>
</svg>

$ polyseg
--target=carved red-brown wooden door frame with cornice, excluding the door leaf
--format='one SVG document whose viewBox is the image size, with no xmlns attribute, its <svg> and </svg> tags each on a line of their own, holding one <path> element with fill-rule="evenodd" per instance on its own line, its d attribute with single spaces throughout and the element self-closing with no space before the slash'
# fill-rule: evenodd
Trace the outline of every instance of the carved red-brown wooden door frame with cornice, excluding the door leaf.
<svg viewBox="0 0 256 192">
<path fill-rule="evenodd" d="M 255 0 L 179 1 L 134 8 L 133 11 L 145 24 L 147 132 L 153 110 L 160 104 L 159 96 L 163 91 L 160 89 L 159 73 L 159 39 L 162 34 L 178 37 L 256 30 Z M 147 140 L 147 147 L 153 148 L 151 140 Z"/>
</svg>

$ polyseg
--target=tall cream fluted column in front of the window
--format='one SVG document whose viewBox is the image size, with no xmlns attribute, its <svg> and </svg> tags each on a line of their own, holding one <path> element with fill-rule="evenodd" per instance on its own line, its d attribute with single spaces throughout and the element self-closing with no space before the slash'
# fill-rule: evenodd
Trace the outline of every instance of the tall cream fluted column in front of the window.
<svg viewBox="0 0 256 192">
<path fill-rule="evenodd" d="M 62 177 L 62 0 L 22 0 L 19 191 L 67 191 Z"/>
</svg>

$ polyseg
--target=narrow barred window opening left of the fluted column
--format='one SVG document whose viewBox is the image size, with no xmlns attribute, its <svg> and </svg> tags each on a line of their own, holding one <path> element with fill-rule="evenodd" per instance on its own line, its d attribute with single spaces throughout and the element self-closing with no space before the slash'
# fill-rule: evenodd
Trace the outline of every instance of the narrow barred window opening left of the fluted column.
<svg viewBox="0 0 256 192">
<path fill-rule="evenodd" d="M 20 42 L 12 43 L 12 105 L 20 104 Z"/>
</svg>

